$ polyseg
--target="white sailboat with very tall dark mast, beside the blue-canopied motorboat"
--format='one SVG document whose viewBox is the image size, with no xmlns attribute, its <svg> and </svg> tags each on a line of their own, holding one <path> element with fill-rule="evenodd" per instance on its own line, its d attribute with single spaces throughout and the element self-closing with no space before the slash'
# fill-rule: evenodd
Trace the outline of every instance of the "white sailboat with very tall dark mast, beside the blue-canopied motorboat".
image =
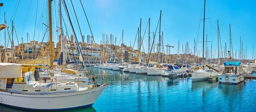
<svg viewBox="0 0 256 112">
<path fill-rule="evenodd" d="M 204 0 L 204 23 L 205 23 L 205 2 L 206 0 Z M 204 62 L 204 30 L 203 30 L 203 61 L 202 61 L 203 69 L 191 73 L 192 81 L 201 81 L 201 80 L 206 80 L 207 77 L 218 76 L 218 72 L 215 72 L 210 69 L 204 69 L 204 63 L 205 62 Z"/>
</svg>

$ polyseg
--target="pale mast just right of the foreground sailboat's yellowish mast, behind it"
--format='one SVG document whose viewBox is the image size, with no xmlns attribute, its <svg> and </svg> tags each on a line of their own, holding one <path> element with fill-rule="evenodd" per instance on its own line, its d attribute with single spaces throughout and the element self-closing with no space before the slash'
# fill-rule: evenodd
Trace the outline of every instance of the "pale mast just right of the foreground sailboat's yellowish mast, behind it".
<svg viewBox="0 0 256 112">
<path fill-rule="evenodd" d="M 66 58 L 65 58 L 65 54 L 64 54 L 64 42 L 63 42 L 63 31 L 62 31 L 62 14 L 61 14 L 61 0 L 59 0 L 59 11 L 60 11 L 60 28 L 61 28 L 61 53 L 62 53 L 62 58 L 63 58 L 63 62 L 62 62 L 62 65 L 65 65 L 66 64 Z M 62 66 L 62 69 L 63 69 L 63 66 Z"/>
</svg>

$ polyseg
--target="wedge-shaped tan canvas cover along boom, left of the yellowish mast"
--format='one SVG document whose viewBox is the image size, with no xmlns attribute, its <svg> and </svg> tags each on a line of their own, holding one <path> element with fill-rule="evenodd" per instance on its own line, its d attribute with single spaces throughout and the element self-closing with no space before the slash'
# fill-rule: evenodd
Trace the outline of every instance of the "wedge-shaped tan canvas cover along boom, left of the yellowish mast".
<svg viewBox="0 0 256 112">
<path fill-rule="evenodd" d="M 20 62 L 19 64 L 46 64 L 50 65 L 50 56 L 44 57 L 44 58 L 38 58 L 38 59 L 32 59 L 25 62 Z"/>
</svg>

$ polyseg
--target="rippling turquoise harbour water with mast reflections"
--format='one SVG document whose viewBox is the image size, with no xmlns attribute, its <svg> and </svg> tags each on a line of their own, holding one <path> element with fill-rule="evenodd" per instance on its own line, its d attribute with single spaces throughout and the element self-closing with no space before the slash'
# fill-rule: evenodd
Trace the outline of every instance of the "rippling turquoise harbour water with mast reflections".
<svg viewBox="0 0 256 112">
<path fill-rule="evenodd" d="M 238 85 L 192 82 L 188 78 L 136 75 L 92 68 L 108 73 L 108 87 L 93 106 L 61 112 L 254 112 L 256 80 Z M 28 112 L 0 106 L 4 112 Z M 31 111 L 30 111 L 31 112 Z"/>
</svg>

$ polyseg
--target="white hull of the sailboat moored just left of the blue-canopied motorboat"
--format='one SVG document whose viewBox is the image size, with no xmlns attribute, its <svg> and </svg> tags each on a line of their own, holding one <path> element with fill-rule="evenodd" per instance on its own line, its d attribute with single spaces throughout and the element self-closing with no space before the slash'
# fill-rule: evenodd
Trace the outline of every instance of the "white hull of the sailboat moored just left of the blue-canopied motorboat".
<svg viewBox="0 0 256 112">
<path fill-rule="evenodd" d="M 218 72 L 215 72 L 215 71 L 210 70 L 210 69 L 198 70 L 198 71 L 195 71 L 195 72 L 191 73 L 192 81 L 206 80 L 207 77 L 218 76 L 218 74 L 219 74 Z"/>
</svg>

